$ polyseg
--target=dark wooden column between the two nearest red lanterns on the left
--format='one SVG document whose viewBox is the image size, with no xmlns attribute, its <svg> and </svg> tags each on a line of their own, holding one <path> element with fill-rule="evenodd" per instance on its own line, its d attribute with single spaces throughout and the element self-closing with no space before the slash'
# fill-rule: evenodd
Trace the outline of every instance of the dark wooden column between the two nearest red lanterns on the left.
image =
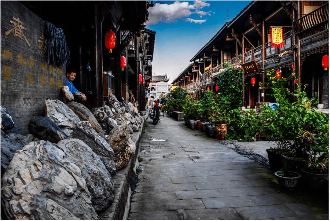
<svg viewBox="0 0 330 221">
<path fill-rule="evenodd" d="M 121 101 L 121 65 L 120 65 L 120 31 L 116 33 L 116 46 L 115 46 L 115 96 L 119 101 Z"/>
</svg>

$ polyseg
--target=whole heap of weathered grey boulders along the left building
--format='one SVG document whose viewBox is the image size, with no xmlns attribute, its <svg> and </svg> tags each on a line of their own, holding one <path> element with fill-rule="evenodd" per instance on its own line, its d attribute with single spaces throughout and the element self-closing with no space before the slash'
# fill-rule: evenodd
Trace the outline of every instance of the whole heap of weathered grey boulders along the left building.
<svg viewBox="0 0 330 221">
<path fill-rule="evenodd" d="M 1 106 L 2 219 L 97 219 L 114 201 L 112 176 L 135 153 L 130 134 L 142 118 L 114 95 L 93 113 L 59 100 L 45 111 L 22 136 L 7 131 L 14 121 Z"/>
</svg>

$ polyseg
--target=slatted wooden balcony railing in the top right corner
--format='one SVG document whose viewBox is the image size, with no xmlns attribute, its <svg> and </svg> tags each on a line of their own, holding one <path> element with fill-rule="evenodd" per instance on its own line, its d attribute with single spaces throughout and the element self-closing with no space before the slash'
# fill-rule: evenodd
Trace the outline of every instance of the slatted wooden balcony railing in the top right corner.
<svg viewBox="0 0 330 221">
<path fill-rule="evenodd" d="M 292 22 L 297 34 L 319 26 L 329 20 L 329 3 Z"/>
</svg>

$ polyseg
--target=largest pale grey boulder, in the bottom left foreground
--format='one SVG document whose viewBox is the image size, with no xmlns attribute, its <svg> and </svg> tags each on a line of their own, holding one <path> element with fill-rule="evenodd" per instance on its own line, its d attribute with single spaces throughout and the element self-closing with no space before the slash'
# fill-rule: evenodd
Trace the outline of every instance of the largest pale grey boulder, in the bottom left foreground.
<svg viewBox="0 0 330 221">
<path fill-rule="evenodd" d="M 17 150 L 1 178 L 8 219 L 97 219 L 80 168 L 57 144 Z"/>
</svg>

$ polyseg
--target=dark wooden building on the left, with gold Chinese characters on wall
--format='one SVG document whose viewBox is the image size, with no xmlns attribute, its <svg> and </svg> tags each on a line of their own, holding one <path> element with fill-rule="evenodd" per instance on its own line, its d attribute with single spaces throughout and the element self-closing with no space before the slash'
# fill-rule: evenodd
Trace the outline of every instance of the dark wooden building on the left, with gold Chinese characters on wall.
<svg viewBox="0 0 330 221">
<path fill-rule="evenodd" d="M 102 107 L 114 93 L 119 101 L 134 96 L 145 110 L 139 75 L 151 76 L 146 63 L 155 32 L 144 30 L 144 23 L 152 6 L 150 1 L 1 1 L 1 105 L 14 117 L 10 132 L 27 134 L 30 119 L 45 115 L 45 99 L 65 102 L 67 68 L 76 71 L 73 83 L 87 95 L 88 108 Z M 71 54 L 67 66 L 48 63 L 46 21 L 64 32 Z M 110 29 L 116 36 L 112 53 L 105 47 Z"/>
</svg>

